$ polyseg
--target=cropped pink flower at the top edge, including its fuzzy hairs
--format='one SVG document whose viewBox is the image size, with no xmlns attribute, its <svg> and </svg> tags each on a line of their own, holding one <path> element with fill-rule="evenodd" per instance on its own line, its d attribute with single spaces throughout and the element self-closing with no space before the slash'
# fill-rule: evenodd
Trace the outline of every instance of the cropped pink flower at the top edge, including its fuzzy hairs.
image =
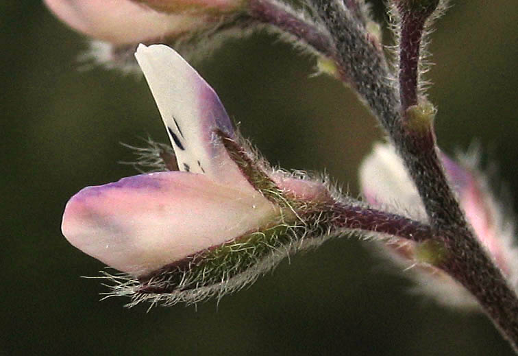
<svg viewBox="0 0 518 356">
<path fill-rule="evenodd" d="M 93 38 L 82 60 L 138 71 L 138 43 L 166 43 L 184 54 L 210 50 L 245 11 L 243 0 L 45 0 L 58 19 Z M 210 47 L 209 47 L 210 46 Z"/>
</svg>

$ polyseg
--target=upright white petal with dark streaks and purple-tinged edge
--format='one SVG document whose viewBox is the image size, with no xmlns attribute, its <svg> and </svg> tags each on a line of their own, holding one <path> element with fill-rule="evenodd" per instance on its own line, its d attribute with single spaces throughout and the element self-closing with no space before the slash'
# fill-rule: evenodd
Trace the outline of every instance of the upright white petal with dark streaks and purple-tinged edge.
<svg viewBox="0 0 518 356">
<path fill-rule="evenodd" d="M 135 57 L 162 115 L 180 170 L 250 189 L 214 134 L 221 130 L 234 137 L 232 123 L 214 90 L 170 47 L 139 45 Z"/>
</svg>

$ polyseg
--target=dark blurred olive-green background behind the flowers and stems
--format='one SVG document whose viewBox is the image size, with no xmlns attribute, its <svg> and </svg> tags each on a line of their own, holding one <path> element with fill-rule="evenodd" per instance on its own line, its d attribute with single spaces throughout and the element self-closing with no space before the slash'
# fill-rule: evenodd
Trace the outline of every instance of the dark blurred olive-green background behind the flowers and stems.
<svg viewBox="0 0 518 356">
<path fill-rule="evenodd" d="M 518 193 L 518 2 L 453 1 L 432 36 L 428 78 L 446 152 L 477 140 Z M 378 20 L 380 1 L 375 1 Z M 410 292 L 368 244 L 336 239 L 284 261 L 249 289 L 195 307 L 99 302 L 103 265 L 62 237 L 82 187 L 136 174 L 119 142 L 166 141 L 145 82 L 79 71 L 86 41 L 39 1 L 0 1 L 0 354 L 510 355 L 478 313 Z M 375 121 L 342 84 L 267 34 L 195 67 L 247 137 L 282 167 L 326 170 L 352 195 Z"/>
</svg>

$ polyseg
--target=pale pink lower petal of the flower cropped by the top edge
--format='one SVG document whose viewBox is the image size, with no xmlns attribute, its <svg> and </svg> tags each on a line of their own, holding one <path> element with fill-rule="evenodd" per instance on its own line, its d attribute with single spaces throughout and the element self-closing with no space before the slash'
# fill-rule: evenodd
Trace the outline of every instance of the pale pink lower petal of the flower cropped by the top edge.
<svg viewBox="0 0 518 356">
<path fill-rule="evenodd" d="M 164 14 L 130 0 L 44 0 L 67 25 L 114 44 L 160 40 L 206 24 L 201 16 Z"/>
</svg>

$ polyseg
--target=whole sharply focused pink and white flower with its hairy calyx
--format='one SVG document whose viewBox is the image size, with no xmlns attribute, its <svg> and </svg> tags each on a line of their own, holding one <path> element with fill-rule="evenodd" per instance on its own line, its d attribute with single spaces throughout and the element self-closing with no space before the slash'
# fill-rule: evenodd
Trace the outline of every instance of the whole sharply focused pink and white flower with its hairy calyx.
<svg viewBox="0 0 518 356">
<path fill-rule="evenodd" d="M 212 88 L 164 45 L 140 45 L 143 69 L 180 171 L 79 191 L 62 231 L 124 272 L 119 294 L 195 302 L 253 281 L 295 246 L 303 209 L 330 200 L 320 182 L 274 171 L 241 145 Z M 117 289 L 118 288 L 118 289 Z"/>
</svg>

